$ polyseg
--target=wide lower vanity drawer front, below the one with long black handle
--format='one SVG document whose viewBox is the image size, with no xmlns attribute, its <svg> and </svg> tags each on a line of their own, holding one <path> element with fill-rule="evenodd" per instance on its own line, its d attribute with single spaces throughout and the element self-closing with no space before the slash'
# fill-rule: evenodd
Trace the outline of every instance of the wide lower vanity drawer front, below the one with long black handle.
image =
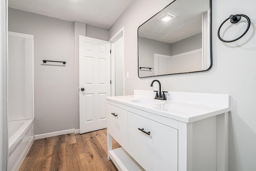
<svg viewBox="0 0 256 171">
<path fill-rule="evenodd" d="M 178 162 L 128 131 L 129 149 L 153 171 L 178 171 Z"/>
</svg>

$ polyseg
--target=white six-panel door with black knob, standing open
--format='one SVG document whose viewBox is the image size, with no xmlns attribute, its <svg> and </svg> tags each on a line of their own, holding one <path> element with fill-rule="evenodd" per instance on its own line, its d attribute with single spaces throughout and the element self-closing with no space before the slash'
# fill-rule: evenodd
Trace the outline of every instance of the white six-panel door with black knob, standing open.
<svg viewBox="0 0 256 171">
<path fill-rule="evenodd" d="M 80 133 L 107 127 L 110 96 L 110 42 L 79 36 Z"/>
</svg>

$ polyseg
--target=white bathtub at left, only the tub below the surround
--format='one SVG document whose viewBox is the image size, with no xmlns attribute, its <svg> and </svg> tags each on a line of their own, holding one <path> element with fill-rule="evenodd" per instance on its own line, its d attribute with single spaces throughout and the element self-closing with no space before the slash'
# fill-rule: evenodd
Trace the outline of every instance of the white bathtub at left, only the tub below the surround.
<svg viewBox="0 0 256 171">
<path fill-rule="evenodd" d="M 8 171 L 18 171 L 34 141 L 34 119 L 8 122 Z"/>
</svg>

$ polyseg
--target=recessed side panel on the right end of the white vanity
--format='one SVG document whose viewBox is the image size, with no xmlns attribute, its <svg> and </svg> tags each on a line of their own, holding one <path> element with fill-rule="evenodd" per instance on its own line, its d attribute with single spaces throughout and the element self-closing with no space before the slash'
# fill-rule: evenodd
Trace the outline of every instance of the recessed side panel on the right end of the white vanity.
<svg viewBox="0 0 256 171">
<path fill-rule="evenodd" d="M 216 171 L 217 116 L 193 122 L 193 171 Z"/>
</svg>

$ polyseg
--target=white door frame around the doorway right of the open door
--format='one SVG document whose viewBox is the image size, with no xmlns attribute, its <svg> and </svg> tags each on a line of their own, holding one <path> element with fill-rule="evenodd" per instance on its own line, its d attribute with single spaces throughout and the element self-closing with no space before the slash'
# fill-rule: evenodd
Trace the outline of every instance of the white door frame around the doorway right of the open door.
<svg viewBox="0 0 256 171">
<path fill-rule="evenodd" d="M 115 79 L 115 68 L 116 68 L 116 64 L 115 64 L 115 51 L 114 51 L 114 43 L 116 41 L 118 41 L 120 38 L 124 38 L 124 26 L 118 30 L 114 36 L 112 36 L 112 38 L 110 38 L 108 41 L 110 42 L 110 49 L 111 49 L 111 54 L 110 54 L 110 72 L 111 72 L 111 96 L 115 96 L 115 84 L 116 84 L 116 79 Z M 123 46 L 124 46 L 124 39 L 123 39 Z M 123 52 L 124 55 L 124 52 Z M 123 63 L 123 72 L 124 72 L 124 63 Z M 124 94 L 124 73 L 123 73 L 123 95 Z"/>
</svg>

